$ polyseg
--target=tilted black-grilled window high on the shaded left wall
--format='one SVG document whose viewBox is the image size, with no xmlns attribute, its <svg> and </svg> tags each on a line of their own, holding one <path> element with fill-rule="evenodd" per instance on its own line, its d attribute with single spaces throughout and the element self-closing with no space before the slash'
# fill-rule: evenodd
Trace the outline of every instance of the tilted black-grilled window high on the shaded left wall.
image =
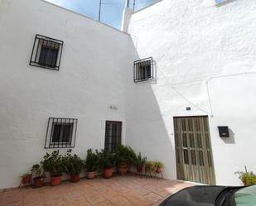
<svg viewBox="0 0 256 206">
<path fill-rule="evenodd" d="M 30 64 L 46 69 L 60 69 L 63 41 L 36 34 Z"/>
</svg>

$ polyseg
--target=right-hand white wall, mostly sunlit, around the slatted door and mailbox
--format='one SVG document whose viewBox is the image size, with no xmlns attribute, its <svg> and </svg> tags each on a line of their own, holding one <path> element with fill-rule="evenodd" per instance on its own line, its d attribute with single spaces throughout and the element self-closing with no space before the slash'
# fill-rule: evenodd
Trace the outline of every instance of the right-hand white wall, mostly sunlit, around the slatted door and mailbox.
<svg viewBox="0 0 256 206">
<path fill-rule="evenodd" d="M 162 160 L 167 178 L 176 178 L 175 116 L 209 116 L 217 184 L 240 184 L 244 165 L 256 171 L 255 20 L 256 2 L 245 0 L 164 0 L 133 14 L 128 32 L 140 58 L 155 60 L 157 80 L 128 83 L 127 143 Z"/>
</svg>

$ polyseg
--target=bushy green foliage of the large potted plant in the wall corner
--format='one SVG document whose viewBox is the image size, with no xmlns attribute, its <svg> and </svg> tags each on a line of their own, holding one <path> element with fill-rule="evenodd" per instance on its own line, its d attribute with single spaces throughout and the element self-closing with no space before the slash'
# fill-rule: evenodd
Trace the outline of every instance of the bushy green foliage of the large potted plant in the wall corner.
<svg viewBox="0 0 256 206">
<path fill-rule="evenodd" d="M 136 154 L 130 146 L 120 145 L 115 152 L 115 160 L 118 165 L 127 164 L 131 165 L 136 160 Z"/>
</svg>

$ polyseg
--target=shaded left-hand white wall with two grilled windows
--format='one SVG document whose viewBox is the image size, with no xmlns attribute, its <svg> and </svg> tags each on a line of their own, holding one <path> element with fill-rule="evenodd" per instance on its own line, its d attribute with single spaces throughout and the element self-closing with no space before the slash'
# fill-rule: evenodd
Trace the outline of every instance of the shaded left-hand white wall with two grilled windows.
<svg viewBox="0 0 256 206">
<path fill-rule="evenodd" d="M 64 41 L 60 71 L 29 65 L 36 33 Z M 78 118 L 74 152 L 104 148 L 105 121 L 123 122 L 130 36 L 36 0 L 0 5 L 0 188 L 46 154 L 48 117 Z M 118 109 L 110 109 L 114 105 Z M 65 152 L 66 149 L 61 149 Z"/>
</svg>

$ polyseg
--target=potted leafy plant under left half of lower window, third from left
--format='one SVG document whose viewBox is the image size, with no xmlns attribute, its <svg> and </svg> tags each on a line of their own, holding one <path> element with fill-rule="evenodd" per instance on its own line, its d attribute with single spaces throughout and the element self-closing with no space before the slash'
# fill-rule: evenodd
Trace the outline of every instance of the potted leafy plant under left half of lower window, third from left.
<svg viewBox="0 0 256 206">
<path fill-rule="evenodd" d="M 64 171 L 63 156 L 60 155 L 60 151 L 53 151 L 51 154 L 46 153 L 44 160 L 41 162 L 45 171 L 51 175 L 51 186 L 59 185 Z"/>
</svg>

